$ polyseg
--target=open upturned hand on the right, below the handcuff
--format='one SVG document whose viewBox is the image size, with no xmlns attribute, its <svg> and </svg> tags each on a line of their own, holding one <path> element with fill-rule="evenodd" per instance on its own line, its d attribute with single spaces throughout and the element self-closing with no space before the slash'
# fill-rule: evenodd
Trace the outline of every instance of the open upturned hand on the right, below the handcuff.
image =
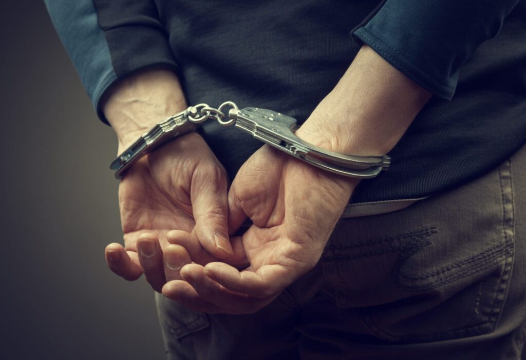
<svg viewBox="0 0 526 360">
<path fill-rule="evenodd" d="M 230 230 L 247 217 L 254 223 L 241 237 L 250 266 L 187 264 L 180 273 L 187 282 L 170 281 L 163 294 L 197 311 L 259 310 L 316 265 L 357 183 L 262 147 L 229 192 Z"/>
</svg>

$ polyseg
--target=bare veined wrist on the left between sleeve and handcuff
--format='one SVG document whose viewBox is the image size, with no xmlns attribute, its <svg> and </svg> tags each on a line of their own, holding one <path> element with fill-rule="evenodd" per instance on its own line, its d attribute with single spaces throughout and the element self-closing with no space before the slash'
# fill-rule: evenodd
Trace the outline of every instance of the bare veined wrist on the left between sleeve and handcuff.
<svg viewBox="0 0 526 360">
<path fill-rule="evenodd" d="M 102 110 L 119 141 L 119 152 L 157 122 L 186 109 L 177 76 L 156 68 L 115 83 L 102 99 Z"/>
</svg>

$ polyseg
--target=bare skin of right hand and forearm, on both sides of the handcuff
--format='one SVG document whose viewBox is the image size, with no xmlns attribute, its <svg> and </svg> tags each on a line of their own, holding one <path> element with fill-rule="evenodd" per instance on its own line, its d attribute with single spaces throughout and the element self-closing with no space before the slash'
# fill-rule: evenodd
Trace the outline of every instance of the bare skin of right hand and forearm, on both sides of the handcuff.
<svg viewBox="0 0 526 360">
<path fill-rule="evenodd" d="M 328 150 L 383 155 L 398 142 L 431 94 L 364 46 L 296 134 Z M 229 228 L 248 217 L 241 237 L 250 266 L 186 264 L 186 280 L 167 282 L 163 294 L 210 313 L 252 313 L 312 269 L 358 180 L 334 175 L 268 145 L 241 167 L 229 190 Z M 236 240 L 237 238 L 232 238 Z M 175 240 L 190 250 L 189 234 Z"/>
</svg>

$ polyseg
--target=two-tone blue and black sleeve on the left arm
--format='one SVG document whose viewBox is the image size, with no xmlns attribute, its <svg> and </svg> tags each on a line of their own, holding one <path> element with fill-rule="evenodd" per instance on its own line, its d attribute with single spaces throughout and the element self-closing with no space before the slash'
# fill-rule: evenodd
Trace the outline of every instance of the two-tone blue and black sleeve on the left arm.
<svg viewBox="0 0 526 360">
<path fill-rule="evenodd" d="M 178 68 L 150 0 L 44 0 L 101 120 L 99 102 L 120 78 L 152 66 Z"/>
</svg>

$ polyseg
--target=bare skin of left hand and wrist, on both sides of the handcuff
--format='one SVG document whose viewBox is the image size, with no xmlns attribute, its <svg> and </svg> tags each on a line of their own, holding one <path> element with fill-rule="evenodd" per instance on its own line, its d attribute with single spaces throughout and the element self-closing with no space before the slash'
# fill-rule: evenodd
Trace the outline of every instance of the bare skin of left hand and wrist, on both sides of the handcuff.
<svg viewBox="0 0 526 360">
<path fill-rule="evenodd" d="M 155 123 L 186 109 L 177 77 L 163 69 L 123 79 L 105 98 L 103 110 L 117 134 L 119 152 Z M 107 246 L 109 268 L 127 280 L 144 272 L 160 291 L 167 280 L 180 279 L 179 269 L 190 262 L 184 248 L 170 245 L 181 230 L 206 249 L 193 261 L 246 263 L 241 246 L 234 253 L 228 238 L 227 186 L 224 168 L 197 133 L 139 160 L 119 184 L 125 247 Z"/>
</svg>

